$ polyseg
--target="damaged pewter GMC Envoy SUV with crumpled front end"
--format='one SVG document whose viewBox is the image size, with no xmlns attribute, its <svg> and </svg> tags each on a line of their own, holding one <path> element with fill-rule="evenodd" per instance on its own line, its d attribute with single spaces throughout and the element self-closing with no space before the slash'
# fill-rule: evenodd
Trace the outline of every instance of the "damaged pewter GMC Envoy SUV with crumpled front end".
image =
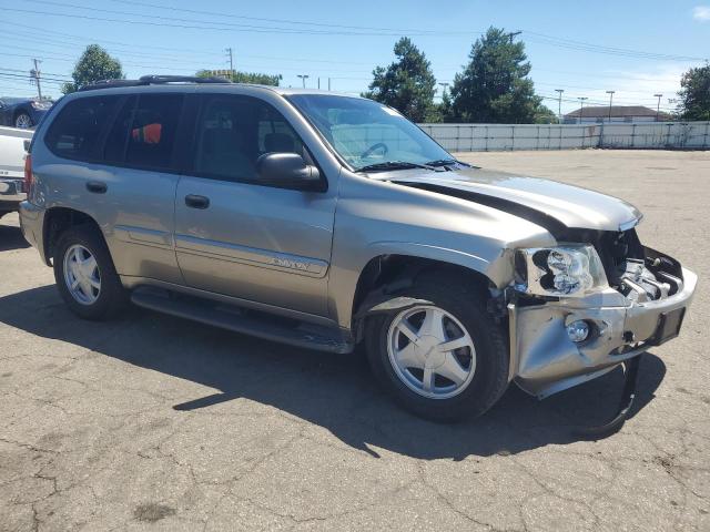
<svg viewBox="0 0 710 532">
<path fill-rule="evenodd" d="M 405 408 L 544 398 L 680 330 L 697 277 L 628 203 L 464 164 L 379 103 L 148 76 L 58 102 L 21 224 L 67 305 L 128 301 L 328 352 Z M 236 355 L 235 355 L 236 356 Z"/>
</svg>

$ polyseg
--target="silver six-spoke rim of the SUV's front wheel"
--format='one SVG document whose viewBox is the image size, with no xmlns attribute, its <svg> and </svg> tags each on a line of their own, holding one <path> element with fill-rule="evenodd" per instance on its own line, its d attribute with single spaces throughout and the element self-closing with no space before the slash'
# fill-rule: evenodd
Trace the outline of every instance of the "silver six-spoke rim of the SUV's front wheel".
<svg viewBox="0 0 710 532">
<path fill-rule="evenodd" d="M 387 355 L 399 380 L 429 399 L 457 396 L 476 372 L 476 348 L 466 327 L 436 306 L 399 313 L 387 331 Z"/>
</svg>

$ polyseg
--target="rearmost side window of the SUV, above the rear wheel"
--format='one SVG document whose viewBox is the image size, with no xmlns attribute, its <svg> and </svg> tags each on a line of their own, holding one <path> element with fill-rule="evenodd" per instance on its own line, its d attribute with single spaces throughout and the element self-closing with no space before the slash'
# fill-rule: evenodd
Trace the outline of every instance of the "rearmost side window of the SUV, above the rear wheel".
<svg viewBox="0 0 710 532">
<path fill-rule="evenodd" d="M 120 96 L 91 96 L 69 102 L 49 127 L 44 142 L 60 157 L 97 158 L 101 130 L 111 119 Z"/>
</svg>

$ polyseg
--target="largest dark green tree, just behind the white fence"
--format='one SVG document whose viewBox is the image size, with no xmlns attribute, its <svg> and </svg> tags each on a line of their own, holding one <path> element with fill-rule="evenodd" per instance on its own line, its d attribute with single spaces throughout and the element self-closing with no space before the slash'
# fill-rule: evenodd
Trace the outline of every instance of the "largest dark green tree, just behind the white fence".
<svg viewBox="0 0 710 532">
<path fill-rule="evenodd" d="M 535 95 L 528 78 L 530 63 L 525 44 L 499 28 L 489 28 L 476 40 L 469 62 L 457 73 L 452 86 L 456 121 L 531 123 L 539 113 L 541 98 Z"/>
</svg>

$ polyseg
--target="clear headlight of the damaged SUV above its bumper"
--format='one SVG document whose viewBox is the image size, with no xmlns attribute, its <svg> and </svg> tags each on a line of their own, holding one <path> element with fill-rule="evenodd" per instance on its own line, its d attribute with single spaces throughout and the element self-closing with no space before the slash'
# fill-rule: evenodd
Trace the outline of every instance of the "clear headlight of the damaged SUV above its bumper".
<svg viewBox="0 0 710 532">
<path fill-rule="evenodd" d="M 535 296 L 582 297 L 608 286 L 599 255 L 587 244 L 516 252 L 515 287 Z"/>
</svg>

